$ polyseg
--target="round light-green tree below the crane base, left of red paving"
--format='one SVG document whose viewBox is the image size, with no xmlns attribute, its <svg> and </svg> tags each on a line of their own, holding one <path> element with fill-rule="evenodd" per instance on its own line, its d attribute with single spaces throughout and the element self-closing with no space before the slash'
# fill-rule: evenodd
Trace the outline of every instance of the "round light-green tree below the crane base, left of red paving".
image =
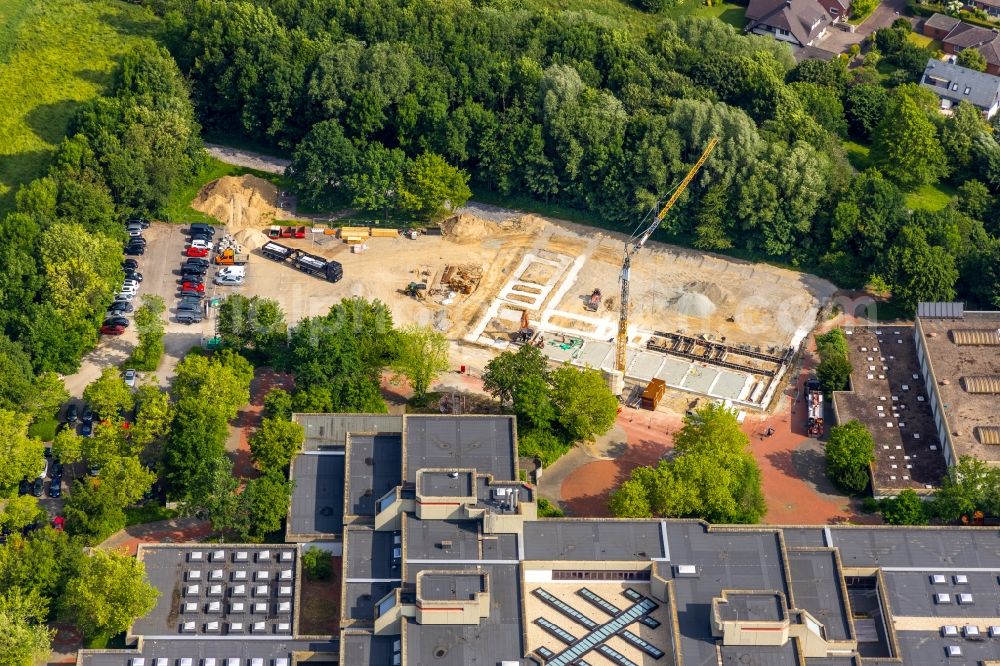
<svg viewBox="0 0 1000 666">
<path fill-rule="evenodd" d="M 606 433 L 618 415 L 618 399 L 592 368 L 563 366 L 552 373 L 556 420 L 571 440 L 591 441 Z"/>
</svg>

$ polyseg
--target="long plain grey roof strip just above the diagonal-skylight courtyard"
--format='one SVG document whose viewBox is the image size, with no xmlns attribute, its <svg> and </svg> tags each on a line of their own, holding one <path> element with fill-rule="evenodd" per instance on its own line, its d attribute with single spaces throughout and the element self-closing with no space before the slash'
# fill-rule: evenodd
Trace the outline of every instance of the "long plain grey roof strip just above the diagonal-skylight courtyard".
<svg viewBox="0 0 1000 666">
<path fill-rule="evenodd" d="M 543 520 L 524 524 L 528 560 L 648 560 L 663 557 L 660 524 Z"/>
</svg>

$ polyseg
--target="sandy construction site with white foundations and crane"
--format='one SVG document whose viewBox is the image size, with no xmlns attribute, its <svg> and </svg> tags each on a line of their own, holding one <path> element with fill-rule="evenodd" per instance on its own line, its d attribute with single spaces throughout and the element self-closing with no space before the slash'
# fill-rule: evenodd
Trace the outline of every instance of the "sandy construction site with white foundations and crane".
<svg viewBox="0 0 1000 666">
<path fill-rule="evenodd" d="M 290 322 L 362 296 L 388 304 L 397 324 L 429 325 L 456 343 L 496 352 L 533 344 L 553 362 L 609 373 L 620 365 L 619 277 L 633 240 L 624 234 L 485 206 L 423 231 L 320 225 L 294 220 L 279 198 L 244 176 L 207 185 L 192 205 L 256 255 L 239 291 L 278 299 Z M 260 260 L 276 234 L 339 262 L 343 278 L 309 280 Z M 707 397 L 766 409 L 835 291 L 810 275 L 652 241 L 633 256 L 619 374 L 636 403 L 659 380 L 665 407 Z"/>
</svg>

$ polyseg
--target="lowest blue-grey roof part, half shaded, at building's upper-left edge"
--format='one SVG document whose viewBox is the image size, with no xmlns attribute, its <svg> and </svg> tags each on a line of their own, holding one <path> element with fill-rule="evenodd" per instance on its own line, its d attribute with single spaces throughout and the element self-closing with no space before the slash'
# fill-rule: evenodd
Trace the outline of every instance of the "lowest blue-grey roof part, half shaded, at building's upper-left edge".
<svg viewBox="0 0 1000 666">
<path fill-rule="evenodd" d="M 340 534 L 344 529 L 344 456 L 300 454 L 292 462 L 290 534 Z"/>
</svg>

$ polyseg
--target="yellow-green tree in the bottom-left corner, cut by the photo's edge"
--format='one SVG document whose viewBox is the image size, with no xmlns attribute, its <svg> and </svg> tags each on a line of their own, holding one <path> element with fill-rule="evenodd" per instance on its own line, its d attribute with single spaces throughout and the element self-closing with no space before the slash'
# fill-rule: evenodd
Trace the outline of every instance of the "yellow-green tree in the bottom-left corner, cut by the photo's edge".
<svg viewBox="0 0 1000 666">
<path fill-rule="evenodd" d="M 56 632 L 45 624 L 39 601 L 18 589 L 0 595 L 0 666 L 33 666 L 49 658 Z"/>
</svg>

